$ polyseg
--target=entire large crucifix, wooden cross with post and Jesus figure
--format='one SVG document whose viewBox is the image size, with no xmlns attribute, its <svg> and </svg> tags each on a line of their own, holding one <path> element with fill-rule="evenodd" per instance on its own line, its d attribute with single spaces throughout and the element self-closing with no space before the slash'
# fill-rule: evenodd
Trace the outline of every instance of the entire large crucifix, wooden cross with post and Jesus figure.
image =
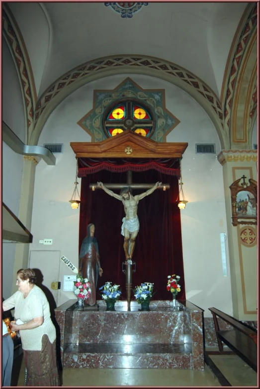
<svg viewBox="0 0 260 389">
<path fill-rule="evenodd" d="M 132 180 L 132 171 L 127 171 L 127 182 L 126 184 L 103 184 L 98 182 L 97 184 L 89 184 L 89 188 L 92 190 L 103 189 L 110 196 L 115 197 L 116 199 L 122 201 L 124 205 L 124 210 L 126 217 L 123 218 L 122 232 L 124 236 L 124 252 L 126 256 L 125 270 L 123 272 L 126 274 L 126 295 L 127 295 L 127 310 L 130 311 L 131 303 L 131 291 L 132 291 L 132 272 L 133 264 L 132 261 L 134 248 L 135 248 L 135 239 L 139 231 L 139 220 L 137 216 L 137 205 L 139 200 L 143 199 L 145 196 L 152 194 L 157 188 L 158 189 L 169 189 L 169 184 L 162 184 L 157 182 L 153 184 L 134 184 Z M 133 196 L 133 189 L 148 189 L 146 192 Z M 111 189 L 121 189 L 120 195 L 114 193 Z M 135 270 L 134 270 L 135 271 Z"/>
</svg>

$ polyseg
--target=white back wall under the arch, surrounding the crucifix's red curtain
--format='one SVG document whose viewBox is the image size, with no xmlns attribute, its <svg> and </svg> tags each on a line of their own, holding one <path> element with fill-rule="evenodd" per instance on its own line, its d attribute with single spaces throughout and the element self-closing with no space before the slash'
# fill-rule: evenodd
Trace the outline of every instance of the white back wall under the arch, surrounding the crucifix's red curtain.
<svg viewBox="0 0 260 389">
<path fill-rule="evenodd" d="M 76 159 L 70 142 L 90 141 L 90 136 L 77 122 L 92 109 L 93 89 L 113 89 L 126 77 L 111 76 L 83 86 L 66 98 L 48 119 L 39 145 L 63 143 L 64 153 L 56 154 L 56 166 L 47 166 L 41 161 L 36 168 L 31 250 L 49 250 L 50 247 L 38 242 L 52 238 L 51 250 L 59 250 L 77 265 L 79 210 L 72 210 L 68 202 L 76 173 Z M 180 120 L 167 141 L 189 144 L 182 159 L 183 190 L 189 201 L 181 211 L 186 297 L 205 310 L 217 306 L 232 314 L 230 276 L 222 275 L 219 235 L 227 233 L 222 166 L 216 155 L 195 153 L 195 143 L 210 142 L 216 143 L 218 154 L 217 132 L 203 109 L 179 88 L 152 77 L 130 77 L 142 88 L 166 90 L 167 108 Z M 61 263 L 59 280 L 62 288 L 63 275 L 69 274 Z M 74 298 L 73 293 L 61 289 L 58 304 L 69 298 Z M 210 316 L 209 311 L 205 316 Z"/>
</svg>

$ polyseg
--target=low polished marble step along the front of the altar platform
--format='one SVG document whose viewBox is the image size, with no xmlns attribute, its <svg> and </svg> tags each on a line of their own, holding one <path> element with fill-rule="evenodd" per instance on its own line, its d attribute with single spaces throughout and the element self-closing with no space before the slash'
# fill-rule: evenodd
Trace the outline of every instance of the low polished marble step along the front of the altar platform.
<svg viewBox="0 0 260 389">
<path fill-rule="evenodd" d="M 191 344 L 64 344 L 63 367 L 191 369 Z"/>
</svg>

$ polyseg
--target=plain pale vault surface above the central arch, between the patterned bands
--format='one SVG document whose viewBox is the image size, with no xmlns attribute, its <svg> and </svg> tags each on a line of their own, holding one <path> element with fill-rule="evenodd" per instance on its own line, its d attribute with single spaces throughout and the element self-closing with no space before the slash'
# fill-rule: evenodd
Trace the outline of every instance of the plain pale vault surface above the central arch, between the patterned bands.
<svg viewBox="0 0 260 389">
<path fill-rule="evenodd" d="M 171 61 L 217 96 L 246 2 L 149 2 L 132 18 L 104 2 L 8 2 L 29 54 L 37 95 L 64 73 L 119 54 Z"/>
</svg>

